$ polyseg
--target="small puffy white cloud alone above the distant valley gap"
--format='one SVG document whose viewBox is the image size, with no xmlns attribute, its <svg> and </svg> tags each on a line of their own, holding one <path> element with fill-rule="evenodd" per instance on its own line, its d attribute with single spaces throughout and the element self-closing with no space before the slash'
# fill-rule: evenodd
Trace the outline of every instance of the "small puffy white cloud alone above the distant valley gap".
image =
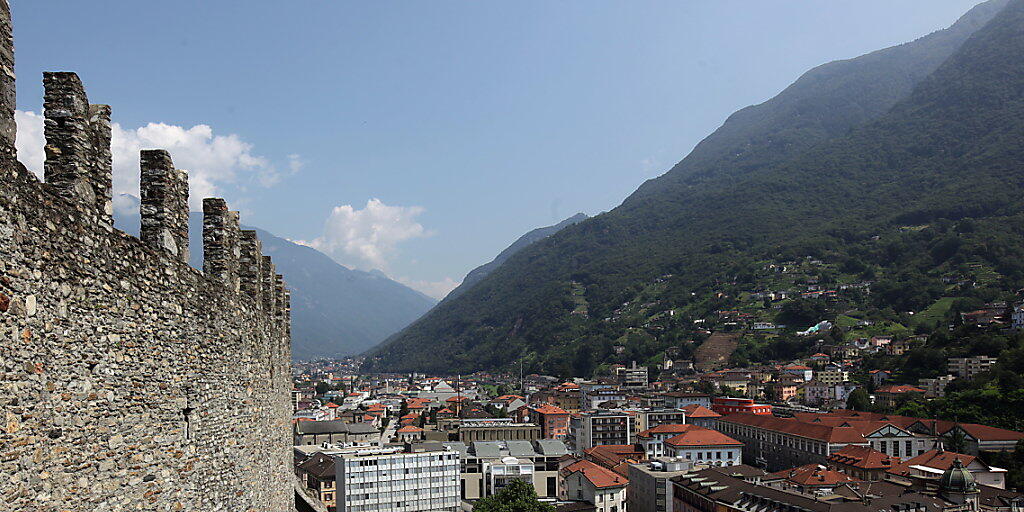
<svg viewBox="0 0 1024 512">
<path fill-rule="evenodd" d="M 399 243 L 431 234 L 416 220 L 423 211 L 418 206 L 388 206 L 379 199 L 368 201 L 361 210 L 337 206 L 331 210 L 323 236 L 296 243 L 349 267 L 386 271 Z"/>
</svg>

